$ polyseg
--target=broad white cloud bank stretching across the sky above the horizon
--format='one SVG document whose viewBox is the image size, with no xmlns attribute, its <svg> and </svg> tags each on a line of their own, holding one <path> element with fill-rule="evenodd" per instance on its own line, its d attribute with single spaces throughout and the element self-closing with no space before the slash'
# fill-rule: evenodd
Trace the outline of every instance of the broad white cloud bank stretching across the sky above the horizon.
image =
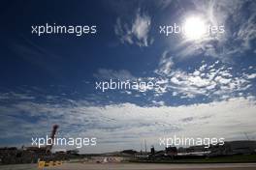
<svg viewBox="0 0 256 170">
<path fill-rule="evenodd" d="M 154 102 L 158 106 L 132 103 L 92 106 L 80 101 L 76 105 L 19 102 L 1 106 L 0 110 L 6 114 L 1 115 L 0 128 L 7 129 L 1 138 L 25 137 L 29 143 L 31 135 L 46 135 L 52 124 L 58 124 L 61 136 L 97 137 L 97 147 L 85 147 L 81 151 L 102 153 L 140 149 L 142 139 L 157 147 L 159 137 L 174 134 L 226 140 L 242 139 L 244 131 L 256 135 L 253 97 L 180 106 L 159 106 L 162 101 Z M 26 118 L 17 116 L 21 113 Z M 27 118 L 37 118 L 38 122 L 32 123 Z"/>
</svg>

